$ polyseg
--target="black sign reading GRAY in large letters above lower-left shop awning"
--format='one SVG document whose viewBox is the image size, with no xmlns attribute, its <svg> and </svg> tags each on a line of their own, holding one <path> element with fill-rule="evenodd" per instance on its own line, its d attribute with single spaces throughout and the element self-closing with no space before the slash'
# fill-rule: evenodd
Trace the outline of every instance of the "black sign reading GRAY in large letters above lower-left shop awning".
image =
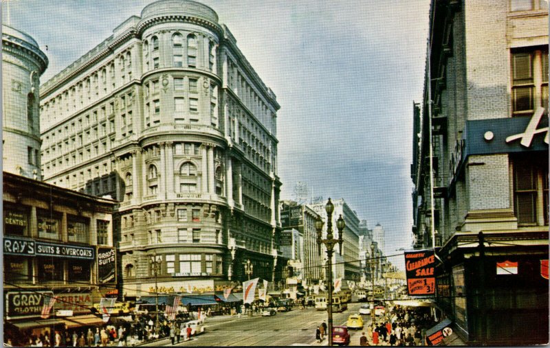
<svg viewBox="0 0 550 348">
<path fill-rule="evenodd" d="M 40 316 L 45 298 L 53 296 L 54 292 L 52 291 L 8 292 L 5 295 L 6 314 L 10 318 Z"/>
</svg>

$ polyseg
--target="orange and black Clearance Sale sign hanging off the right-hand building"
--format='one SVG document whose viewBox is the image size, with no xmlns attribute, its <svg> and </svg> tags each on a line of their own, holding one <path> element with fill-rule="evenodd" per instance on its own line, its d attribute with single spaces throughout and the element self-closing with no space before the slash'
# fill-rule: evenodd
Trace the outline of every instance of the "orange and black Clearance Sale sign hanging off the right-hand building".
<svg viewBox="0 0 550 348">
<path fill-rule="evenodd" d="M 408 294 L 435 294 L 434 251 L 406 251 L 405 268 Z"/>
</svg>

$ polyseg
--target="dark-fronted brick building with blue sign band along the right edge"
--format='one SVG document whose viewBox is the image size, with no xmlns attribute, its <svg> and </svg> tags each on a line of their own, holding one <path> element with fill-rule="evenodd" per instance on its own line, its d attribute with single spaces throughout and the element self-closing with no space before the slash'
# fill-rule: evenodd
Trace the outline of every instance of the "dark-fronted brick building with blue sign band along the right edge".
<svg viewBox="0 0 550 348">
<path fill-rule="evenodd" d="M 417 248 L 436 246 L 438 308 L 470 345 L 548 342 L 547 6 L 430 9 L 413 233 Z"/>
</svg>

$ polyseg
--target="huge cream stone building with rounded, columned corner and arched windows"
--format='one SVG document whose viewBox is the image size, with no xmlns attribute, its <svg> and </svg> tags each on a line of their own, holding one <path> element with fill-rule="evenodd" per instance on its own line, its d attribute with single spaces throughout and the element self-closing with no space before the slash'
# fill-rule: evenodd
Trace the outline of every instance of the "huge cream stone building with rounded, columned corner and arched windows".
<svg viewBox="0 0 550 348">
<path fill-rule="evenodd" d="M 280 106 L 214 10 L 151 3 L 41 89 L 45 179 L 120 201 L 126 297 L 281 274 Z"/>
</svg>

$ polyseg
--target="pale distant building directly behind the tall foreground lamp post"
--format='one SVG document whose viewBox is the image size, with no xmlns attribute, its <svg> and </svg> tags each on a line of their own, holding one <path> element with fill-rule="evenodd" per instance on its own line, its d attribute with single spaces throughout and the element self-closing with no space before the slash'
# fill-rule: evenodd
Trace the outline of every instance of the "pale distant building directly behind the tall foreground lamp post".
<svg viewBox="0 0 550 348">
<path fill-rule="evenodd" d="M 357 213 L 353 211 L 343 198 L 332 200 L 334 211 L 332 213 L 332 230 L 333 235 L 338 236 L 338 228 L 336 220 L 341 215 L 346 224 L 344 228 L 344 242 L 342 243 L 342 255 L 340 255 L 340 244 L 334 247 L 332 270 L 333 277 L 342 278 L 347 282 L 353 281 L 358 283 L 361 280 L 361 268 L 359 258 L 359 235 L 360 235 L 360 220 Z M 325 224 L 323 224 L 322 238 L 327 237 L 327 211 L 325 210 L 327 202 L 316 203 L 310 205 Z M 322 246 L 321 254 L 327 258 L 326 248 Z M 325 278 L 326 279 L 326 278 Z M 343 284 L 343 283 L 342 283 Z"/>
</svg>

